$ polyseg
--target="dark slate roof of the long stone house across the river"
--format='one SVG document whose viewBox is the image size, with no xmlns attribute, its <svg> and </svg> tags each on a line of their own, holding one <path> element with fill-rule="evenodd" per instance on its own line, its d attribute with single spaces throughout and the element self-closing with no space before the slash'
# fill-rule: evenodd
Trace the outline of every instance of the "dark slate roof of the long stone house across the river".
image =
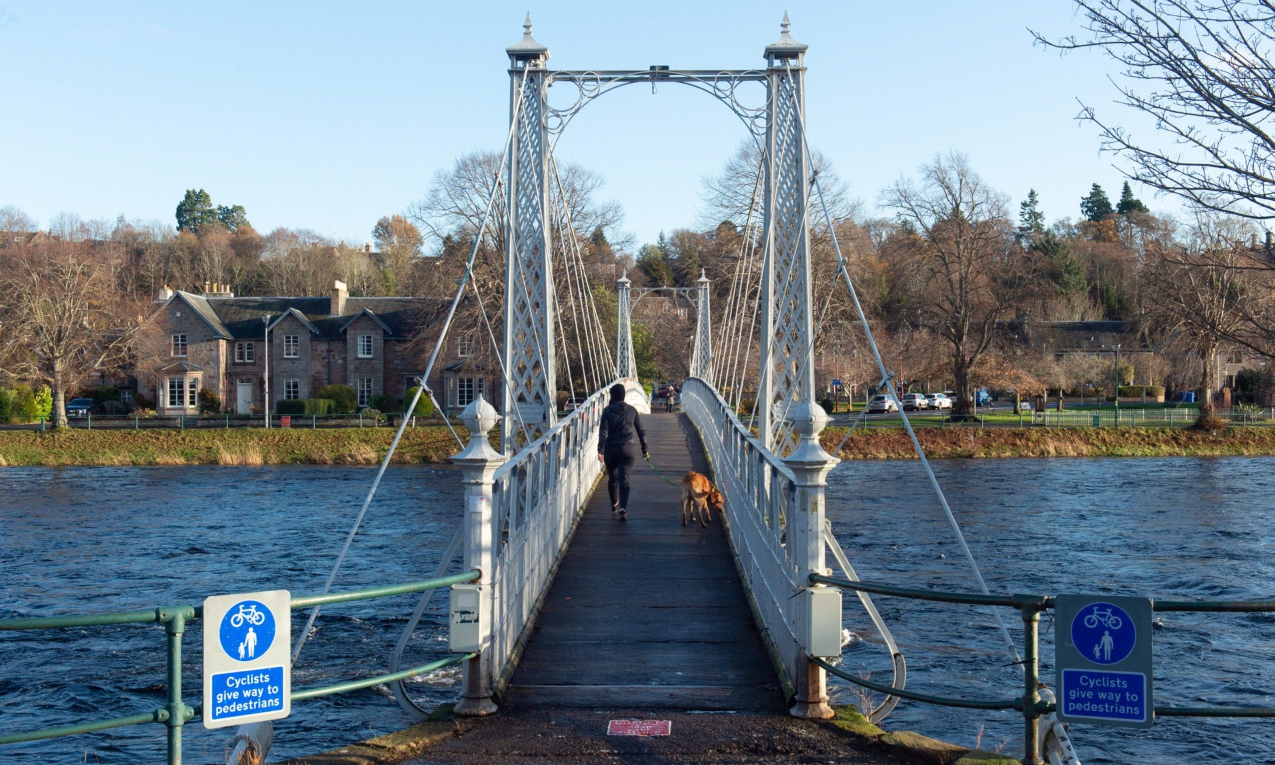
<svg viewBox="0 0 1275 765">
<path fill-rule="evenodd" d="M 189 293 L 187 293 L 189 295 Z M 437 297 L 349 297 L 346 310 L 330 314 L 329 297 L 195 297 L 235 339 L 261 337 L 261 317 L 269 315 L 272 325 L 283 314 L 295 312 L 309 323 L 311 332 L 324 339 L 344 339 L 346 326 L 365 311 L 386 333 L 388 339 L 408 339 L 441 316 L 449 301 Z"/>
</svg>

